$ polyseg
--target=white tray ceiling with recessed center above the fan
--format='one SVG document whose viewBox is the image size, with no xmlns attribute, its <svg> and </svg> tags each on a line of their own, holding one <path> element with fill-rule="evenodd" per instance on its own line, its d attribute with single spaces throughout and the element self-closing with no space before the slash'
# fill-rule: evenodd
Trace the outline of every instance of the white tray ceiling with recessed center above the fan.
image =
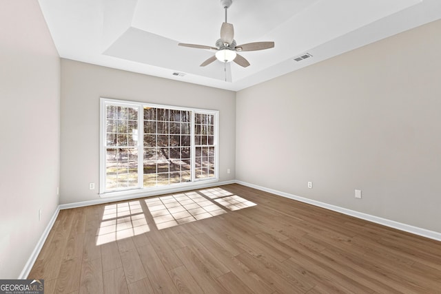
<svg viewBox="0 0 441 294">
<path fill-rule="evenodd" d="M 219 0 L 39 3 L 62 58 L 234 91 L 441 19 L 440 0 L 233 0 L 238 45 L 276 45 L 242 52 L 251 65 L 227 63 L 225 74 L 220 61 L 199 66 L 213 51 L 177 45 L 215 45 L 225 18 Z M 306 52 L 312 57 L 294 61 Z"/>
</svg>

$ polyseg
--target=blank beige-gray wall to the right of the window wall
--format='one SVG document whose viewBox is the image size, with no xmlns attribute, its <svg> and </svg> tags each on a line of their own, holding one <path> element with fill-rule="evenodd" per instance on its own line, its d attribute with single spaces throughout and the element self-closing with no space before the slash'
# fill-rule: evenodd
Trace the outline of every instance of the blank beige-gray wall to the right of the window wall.
<svg viewBox="0 0 441 294">
<path fill-rule="evenodd" d="M 238 92 L 237 180 L 441 232 L 440 32 L 429 23 Z"/>
</svg>

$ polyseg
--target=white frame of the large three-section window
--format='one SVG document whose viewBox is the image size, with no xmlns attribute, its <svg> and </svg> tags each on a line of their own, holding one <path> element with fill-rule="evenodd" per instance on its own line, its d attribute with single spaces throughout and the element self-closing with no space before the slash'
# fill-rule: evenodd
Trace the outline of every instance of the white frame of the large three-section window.
<svg viewBox="0 0 441 294">
<path fill-rule="evenodd" d="M 107 190 L 106 189 L 106 107 L 107 105 L 119 105 L 124 107 L 137 107 L 138 108 L 138 144 L 137 149 L 139 152 L 138 156 L 138 185 L 136 187 L 130 187 L 122 190 Z M 143 187 L 143 107 L 156 107 L 156 108 L 165 108 L 165 109 L 176 109 L 176 110 L 184 110 L 190 111 L 192 113 L 191 122 L 190 122 L 190 147 L 191 147 L 191 182 L 181 182 L 181 183 L 173 183 L 169 185 L 163 186 L 155 186 L 155 187 Z M 214 116 L 214 177 L 211 178 L 196 178 L 195 174 L 195 156 L 196 156 L 196 145 L 194 143 L 194 124 L 195 124 L 195 114 L 212 114 Z M 145 193 L 145 192 L 156 192 L 156 191 L 169 191 L 170 189 L 179 189 L 181 187 L 185 187 L 185 189 L 191 189 L 192 186 L 196 186 L 203 183 L 210 182 L 218 182 L 219 180 L 219 111 L 211 110 L 211 109 L 198 109 L 192 107 L 179 107 L 174 105 L 160 105 L 154 103 L 144 103 L 144 102 L 136 102 L 136 101 L 124 101 L 117 100 L 112 98 L 100 98 L 100 140 L 99 140 L 99 149 L 100 149 L 100 162 L 99 162 L 99 195 L 101 197 L 112 197 L 112 196 L 125 196 L 134 193 Z"/>
</svg>

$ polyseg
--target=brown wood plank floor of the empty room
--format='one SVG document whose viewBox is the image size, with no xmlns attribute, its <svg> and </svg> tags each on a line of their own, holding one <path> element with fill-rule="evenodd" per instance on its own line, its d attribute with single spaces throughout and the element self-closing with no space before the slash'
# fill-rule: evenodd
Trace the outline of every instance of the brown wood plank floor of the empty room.
<svg viewBox="0 0 441 294">
<path fill-rule="evenodd" d="M 441 293 L 441 242 L 241 185 L 66 209 L 45 293 Z"/>
</svg>

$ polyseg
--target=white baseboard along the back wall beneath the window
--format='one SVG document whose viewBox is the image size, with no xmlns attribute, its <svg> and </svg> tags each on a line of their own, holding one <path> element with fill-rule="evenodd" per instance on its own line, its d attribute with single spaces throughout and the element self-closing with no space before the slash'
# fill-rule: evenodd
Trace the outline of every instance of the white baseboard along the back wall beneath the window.
<svg viewBox="0 0 441 294">
<path fill-rule="evenodd" d="M 187 186 L 187 187 L 177 187 L 172 189 L 161 189 L 161 190 L 154 190 L 154 191 L 134 191 L 134 193 L 131 194 L 125 194 L 121 196 L 114 196 L 114 197 L 105 197 L 105 198 L 99 198 L 96 200 L 88 200 L 88 201 L 81 201 L 81 202 L 74 202 L 74 203 L 68 203 L 68 204 L 60 204 L 60 209 L 71 209 L 76 207 L 85 207 L 89 205 L 95 205 L 95 204 L 104 204 L 104 203 L 110 203 L 115 201 L 124 201 L 124 200 L 132 200 L 136 198 L 145 198 L 150 196 L 158 196 L 162 194 L 168 194 L 168 193 L 178 193 L 183 191 L 189 191 L 194 189 L 204 189 L 209 187 L 216 187 L 216 186 L 223 186 L 223 185 L 229 185 L 236 183 L 236 180 L 229 180 L 229 181 L 223 181 L 223 182 L 209 182 L 209 183 L 197 183 L 195 185 Z"/>
</svg>

